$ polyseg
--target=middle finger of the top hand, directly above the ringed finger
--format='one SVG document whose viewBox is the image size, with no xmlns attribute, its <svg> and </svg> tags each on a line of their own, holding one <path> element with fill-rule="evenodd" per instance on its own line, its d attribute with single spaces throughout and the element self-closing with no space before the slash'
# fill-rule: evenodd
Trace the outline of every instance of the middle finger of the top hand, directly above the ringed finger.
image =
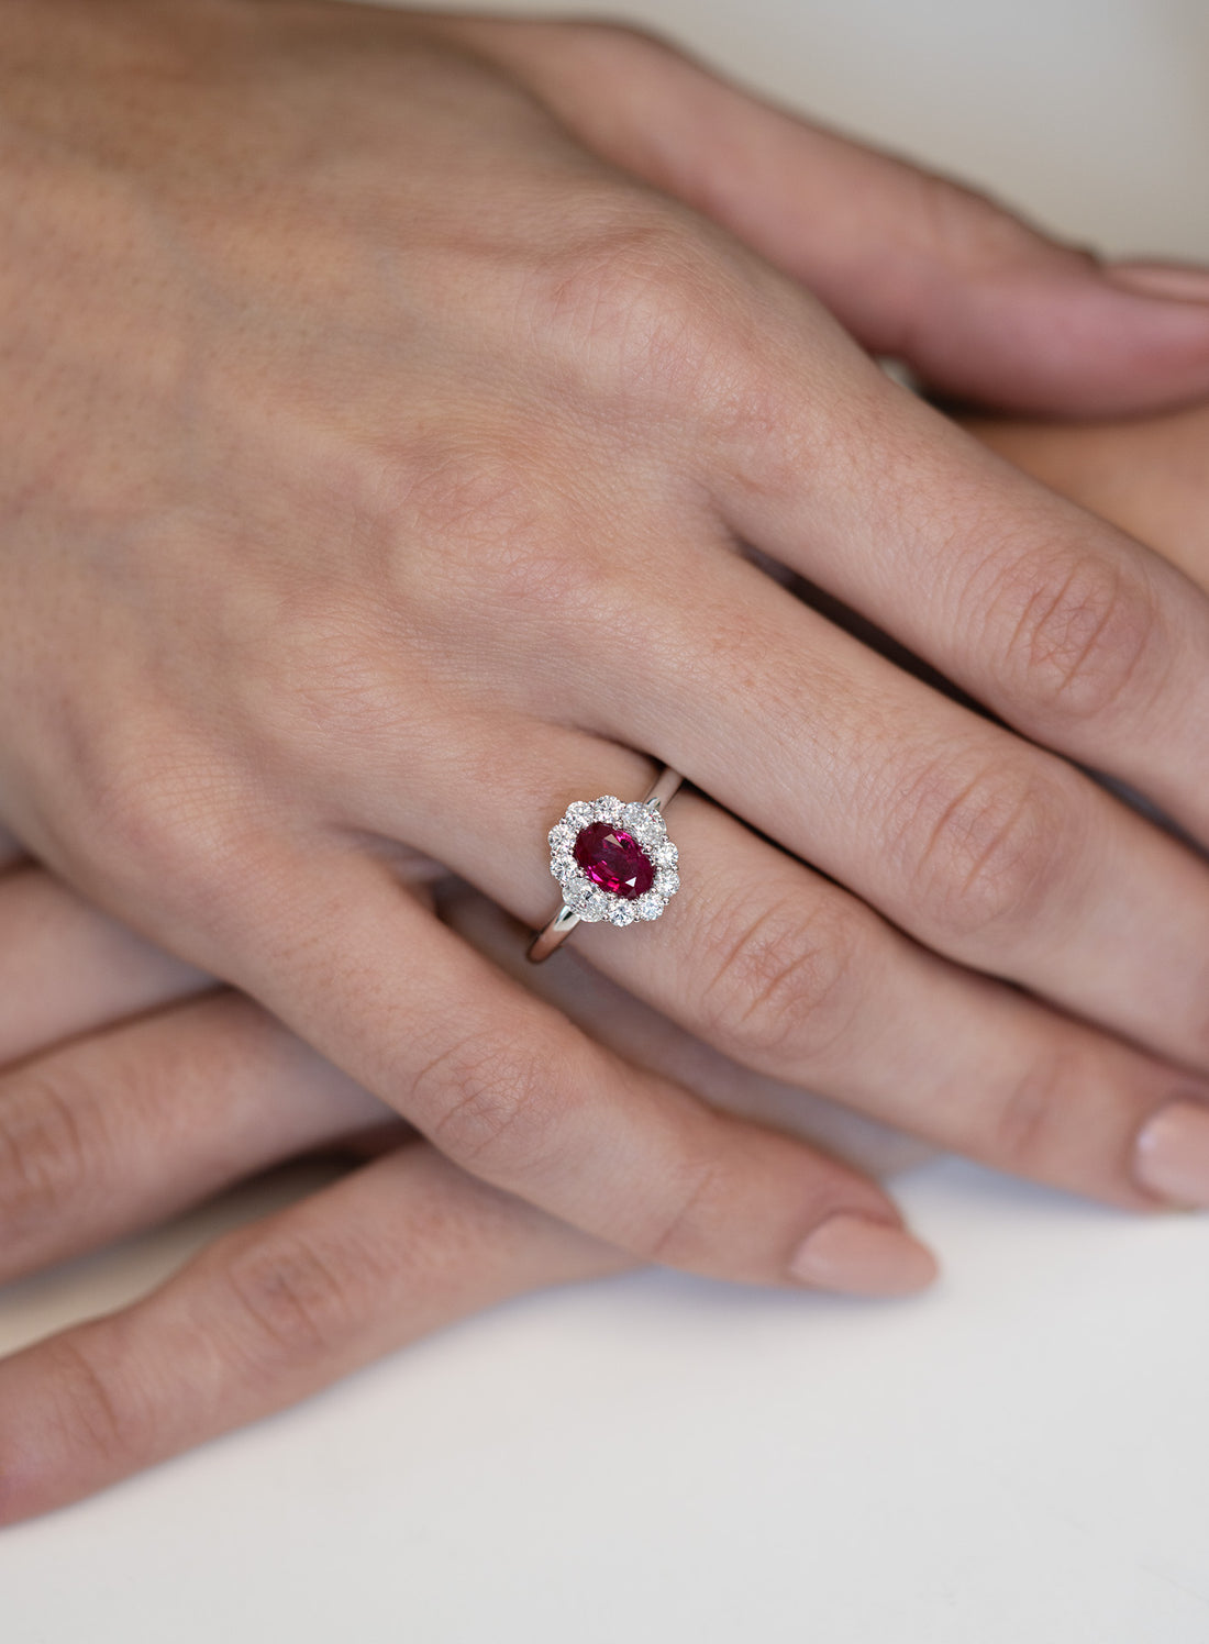
<svg viewBox="0 0 1209 1644">
<path fill-rule="evenodd" d="M 589 728 L 655 750 L 936 952 L 1209 1065 L 1197 857 L 745 559 L 661 577 L 607 723 L 599 695 L 574 704 Z"/>
</svg>

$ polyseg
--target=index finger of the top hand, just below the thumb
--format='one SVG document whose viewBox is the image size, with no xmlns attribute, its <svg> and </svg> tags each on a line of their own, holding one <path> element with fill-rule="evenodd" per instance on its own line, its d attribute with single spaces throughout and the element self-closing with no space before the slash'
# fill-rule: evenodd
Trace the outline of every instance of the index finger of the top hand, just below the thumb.
<svg viewBox="0 0 1209 1644">
<path fill-rule="evenodd" d="M 714 470 L 730 528 L 1209 842 L 1209 598 L 855 353 L 826 409 L 775 398 Z"/>
</svg>

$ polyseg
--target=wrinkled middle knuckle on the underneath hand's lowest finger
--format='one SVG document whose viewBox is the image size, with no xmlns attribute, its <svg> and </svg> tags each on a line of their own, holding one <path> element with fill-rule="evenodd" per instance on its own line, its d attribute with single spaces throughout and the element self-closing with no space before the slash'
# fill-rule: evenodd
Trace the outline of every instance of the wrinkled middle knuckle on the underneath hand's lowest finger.
<svg viewBox="0 0 1209 1644">
<path fill-rule="evenodd" d="M 242 1356 L 271 1376 L 337 1353 L 357 1317 L 357 1286 L 345 1268 L 299 1233 L 237 1246 L 224 1277 Z"/>
</svg>

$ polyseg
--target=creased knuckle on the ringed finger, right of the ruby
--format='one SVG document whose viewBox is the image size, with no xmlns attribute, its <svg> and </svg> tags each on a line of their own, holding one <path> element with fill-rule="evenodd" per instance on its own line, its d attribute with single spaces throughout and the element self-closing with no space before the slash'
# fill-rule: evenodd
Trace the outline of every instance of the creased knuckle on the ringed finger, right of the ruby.
<svg viewBox="0 0 1209 1644">
<path fill-rule="evenodd" d="M 712 954 L 702 1009 L 711 1036 L 747 1062 L 783 1067 L 822 1055 L 860 1003 L 857 921 L 826 899 L 791 894 L 760 909 L 719 909 L 704 932 Z"/>
</svg>

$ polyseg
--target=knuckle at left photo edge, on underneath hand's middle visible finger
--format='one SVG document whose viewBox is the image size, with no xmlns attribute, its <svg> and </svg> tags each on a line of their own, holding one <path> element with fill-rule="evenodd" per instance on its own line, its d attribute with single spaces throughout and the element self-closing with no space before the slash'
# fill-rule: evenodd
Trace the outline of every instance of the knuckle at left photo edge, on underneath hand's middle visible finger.
<svg viewBox="0 0 1209 1644">
<path fill-rule="evenodd" d="M 0 1225 L 5 1241 L 46 1235 L 90 1194 L 104 1146 L 99 1106 L 66 1069 L 28 1070 L 0 1085 Z"/>
</svg>

